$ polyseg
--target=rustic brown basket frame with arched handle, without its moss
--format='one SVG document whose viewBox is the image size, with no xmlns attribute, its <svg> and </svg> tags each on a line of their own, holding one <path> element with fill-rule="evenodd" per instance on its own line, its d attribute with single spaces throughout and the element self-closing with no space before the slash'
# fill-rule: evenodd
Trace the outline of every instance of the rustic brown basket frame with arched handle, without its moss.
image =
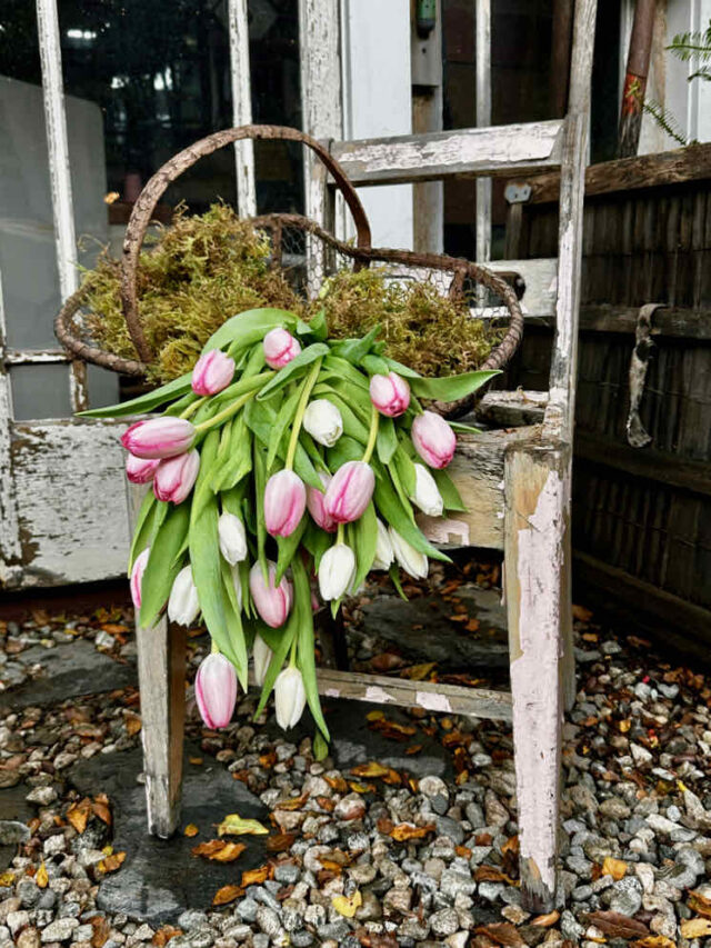
<svg viewBox="0 0 711 948">
<path fill-rule="evenodd" d="M 171 184 L 200 158 L 243 139 L 279 139 L 298 141 L 312 149 L 330 172 L 342 193 L 356 224 L 354 245 L 338 240 L 314 221 L 300 214 L 270 213 L 253 218 L 257 228 L 264 230 L 271 242 L 272 267 L 286 271 L 292 286 L 308 297 L 318 293 L 323 280 L 344 267 L 362 269 L 371 263 L 384 265 L 388 276 L 398 280 L 427 280 L 437 283 L 440 292 L 455 299 L 473 298 L 478 287 L 484 287 L 488 307 L 499 307 L 508 320 L 505 335 L 481 366 L 469 369 L 500 369 L 515 352 L 522 336 L 523 316 L 515 291 L 500 276 L 468 260 L 437 253 L 389 250 L 371 247 L 370 224 L 360 199 L 336 159 L 314 139 L 291 128 L 279 126 L 242 126 L 226 129 L 201 139 L 170 159 L 141 191 L 126 229 L 121 263 L 121 298 L 127 328 L 139 359 L 124 359 L 99 349 L 88 338 L 81 310 L 86 291 L 71 296 L 54 321 L 54 332 L 62 346 L 76 358 L 128 376 L 146 375 L 152 361 L 151 352 L 138 313 L 137 275 L 141 245 L 156 207 Z M 480 291 L 481 292 L 481 291 Z M 490 312 L 490 310 L 489 310 Z M 448 415 L 461 413 L 470 403 L 442 406 Z"/>
</svg>

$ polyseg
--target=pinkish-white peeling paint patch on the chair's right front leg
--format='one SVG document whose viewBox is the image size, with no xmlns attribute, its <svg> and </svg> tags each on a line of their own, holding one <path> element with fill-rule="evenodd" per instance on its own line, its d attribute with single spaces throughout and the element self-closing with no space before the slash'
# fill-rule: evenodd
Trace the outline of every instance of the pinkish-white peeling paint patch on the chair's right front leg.
<svg viewBox="0 0 711 948">
<path fill-rule="evenodd" d="M 560 726 L 560 573 L 564 487 L 551 470 L 535 510 L 518 528 L 520 655 L 511 662 L 517 799 L 521 856 L 532 859 L 541 881 L 555 891 L 559 748 L 551 736 Z M 515 517 L 515 513 L 513 513 Z M 535 776 L 533 776 L 535 775 Z"/>
</svg>

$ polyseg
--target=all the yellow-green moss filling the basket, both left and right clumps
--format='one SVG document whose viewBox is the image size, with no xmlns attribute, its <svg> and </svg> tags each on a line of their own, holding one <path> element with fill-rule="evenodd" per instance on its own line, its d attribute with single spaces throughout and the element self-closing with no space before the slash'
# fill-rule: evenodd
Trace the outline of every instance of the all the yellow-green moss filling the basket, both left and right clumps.
<svg viewBox="0 0 711 948">
<path fill-rule="evenodd" d="M 227 204 L 189 217 L 178 208 L 170 227 L 147 240 L 140 255 L 139 318 L 156 352 L 151 381 L 189 371 L 207 339 L 226 319 L 257 307 L 278 307 L 310 319 L 326 309 L 333 338 L 365 335 L 377 323 L 388 355 L 424 376 L 480 366 L 495 332 L 472 319 L 464 300 L 440 296 L 429 282 L 387 278 L 374 267 L 341 270 L 308 302 L 280 270 L 269 268 L 269 238 Z M 104 350 L 134 359 L 120 299 L 120 265 L 107 252 L 84 277 L 88 328 Z"/>
</svg>

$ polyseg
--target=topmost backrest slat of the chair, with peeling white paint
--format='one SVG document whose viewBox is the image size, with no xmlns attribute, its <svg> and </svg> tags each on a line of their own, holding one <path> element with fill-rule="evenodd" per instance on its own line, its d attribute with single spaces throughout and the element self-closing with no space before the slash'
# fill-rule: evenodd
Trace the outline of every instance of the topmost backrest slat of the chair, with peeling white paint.
<svg viewBox="0 0 711 948">
<path fill-rule="evenodd" d="M 354 184 L 395 184 L 462 177 L 508 176 L 560 164 L 559 120 L 482 129 L 361 139 L 333 146 Z"/>
</svg>

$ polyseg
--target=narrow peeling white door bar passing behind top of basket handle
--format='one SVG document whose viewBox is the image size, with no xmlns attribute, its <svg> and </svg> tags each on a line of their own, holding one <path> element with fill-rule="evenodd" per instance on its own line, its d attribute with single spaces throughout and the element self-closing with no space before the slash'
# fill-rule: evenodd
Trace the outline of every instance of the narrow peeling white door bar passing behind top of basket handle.
<svg viewBox="0 0 711 948">
<path fill-rule="evenodd" d="M 230 30 L 230 67 L 232 81 L 232 121 L 237 126 L 252 122 L 252 84 L 249 63 L 249 22 L 247 0 L 228 0 Z M 254 142 L 234 142 L 237 170 L 237 208 L 241 217 L 257 213 L 254 188 Z"/>
</svg>

